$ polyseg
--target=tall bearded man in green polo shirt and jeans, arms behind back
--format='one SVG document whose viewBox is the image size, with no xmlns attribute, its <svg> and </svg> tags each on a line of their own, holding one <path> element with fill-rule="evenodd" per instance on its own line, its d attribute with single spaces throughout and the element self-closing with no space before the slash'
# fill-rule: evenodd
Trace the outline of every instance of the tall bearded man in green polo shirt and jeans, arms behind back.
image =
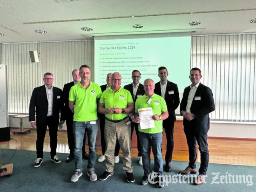
<svg viewBox="0 0 256 192">
<path fill-rule="evenodd" d="M 69 93 L 69 107 L 74 113 L 73 118 L 73 136 L 75 140 L 75 174 L 71 177 L 72 182 L 78 181 L 82 173 L 82 145 L 84 132 L 87 132 L 89 145 L 89 159 L 87 164 L 87 175 L 91 181 L 97 180 L 95 173 L 96 161 L 96 137 L 98 132 L 97 124 L 97 103 L 102 94 L 98 84 L 90 81 L 90 68 L 88 65 L 82 65 L 79 68 L 81 82 L 74 85 Z"/>
</svg>

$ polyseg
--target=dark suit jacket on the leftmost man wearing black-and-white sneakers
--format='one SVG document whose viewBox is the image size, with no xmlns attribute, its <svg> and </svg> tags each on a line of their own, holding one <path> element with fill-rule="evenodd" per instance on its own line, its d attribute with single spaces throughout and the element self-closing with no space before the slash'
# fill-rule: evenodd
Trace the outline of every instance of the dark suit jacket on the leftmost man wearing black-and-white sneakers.
<svg viewBox="0 0 256 192">
<path fill-rule="evenodd" d="M 53 87 L 53 100 L 52 100 L 52 116 L 56 121 L 59 121 L 59 113 L 63 109 L 61 101 L 61 89 Z M 48 100 L 46 95 L 45 85 L 36 87 L 33 92 L 29 103 L 29 121 L 45 123 L 48 112 Z"/>
</svg>

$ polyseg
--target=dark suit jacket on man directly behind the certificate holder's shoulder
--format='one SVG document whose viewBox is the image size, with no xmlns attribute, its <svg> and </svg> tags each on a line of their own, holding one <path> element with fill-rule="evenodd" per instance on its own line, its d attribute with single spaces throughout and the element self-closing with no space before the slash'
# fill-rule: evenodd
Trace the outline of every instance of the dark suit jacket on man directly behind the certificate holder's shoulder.
<svg viewBox="0 0 256 192">
<path fill-rule="evenodd" d="M 160 81 L 155 84 L 154 93 L 161 96 L 161 85 Z M 173 94 L 169 94 L 169 91 L 173 91 Z M 175 122 L 176 121 L 176 115 L 175 115 L 175 109 L 180 104 L 180 96 L 179 96 L 179 90 L 177 84 L 168 81 L 167 80 L 167 86 L 166 86 L 166 93 L 165 98 L 166 101 L 169 117 L 166 119 L 168 121 Z"/>
</svg>

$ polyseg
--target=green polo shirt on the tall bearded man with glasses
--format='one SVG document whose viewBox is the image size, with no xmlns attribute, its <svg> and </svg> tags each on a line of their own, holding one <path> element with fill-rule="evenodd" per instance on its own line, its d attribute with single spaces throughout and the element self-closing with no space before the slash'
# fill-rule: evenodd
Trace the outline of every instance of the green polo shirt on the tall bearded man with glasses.
<svg viewBox="0 0 256 192">
<path fill-rule="evenodd" d="M 75 102 L 73 120 L 77 122 L 97 120 L 97 99 L 101 94 L 100 86 L 92 81 L 87 89 L 84 89 L 81 83 L 71 87 L 68 100 Z"/>
</svg>

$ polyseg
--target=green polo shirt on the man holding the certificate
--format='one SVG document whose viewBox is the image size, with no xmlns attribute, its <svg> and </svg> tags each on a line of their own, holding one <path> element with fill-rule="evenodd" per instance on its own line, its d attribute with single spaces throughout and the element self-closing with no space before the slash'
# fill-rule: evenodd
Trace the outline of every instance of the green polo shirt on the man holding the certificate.
<svg viewBox="0 0 256 192">
<path fill-rule="evenodd" d="M 153 94 L 151 96 L 152 101 L 150 104 L 147 103 L 148 101 L 148 96 L 145 94 L 141 97 L 139 97 L 136 102 L 135 102 L 135 113 L 138 113 L 138 109 L 141 108 L 152 108 L 153 114 L 161 115 L 163 111 L 167 111 L 167 105 L 163 97 Z M 156 121 L 154 120 L 154 128 L 148 128 L 148 129 L 140 129 L 140 124 L 139 124 L 139 131 L 143 133 L 148 133 L 148 134 L 155 134 L 155 133 L 160 133 L 163 131 L 163 121 Z"/>
</svg>

